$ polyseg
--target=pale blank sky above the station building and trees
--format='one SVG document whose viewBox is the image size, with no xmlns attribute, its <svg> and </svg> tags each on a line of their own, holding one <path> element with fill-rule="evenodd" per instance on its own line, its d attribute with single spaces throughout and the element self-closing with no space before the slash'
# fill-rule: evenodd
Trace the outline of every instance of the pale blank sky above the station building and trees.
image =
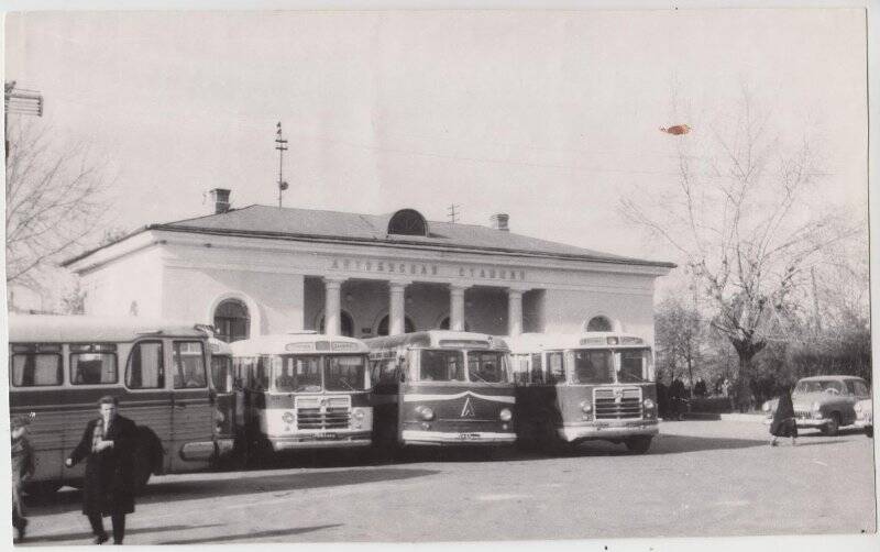
<svg viewBox="0 0 880 552">
<path fill-rule="evenodd" d="M 678 261 L 616 210 L 675 178 L 672 90 L 700 113 L 741 85 L 822 139 L 829 200 L 867 206 L 861 10 L 56 12 L 7 19 L 6 78 L 38 124 L 111 162 L 116 225 L 276 202 L 413 207 L 609 253 Z M 691 136 L 705 131 L 694 128 Z"/>
</svg>

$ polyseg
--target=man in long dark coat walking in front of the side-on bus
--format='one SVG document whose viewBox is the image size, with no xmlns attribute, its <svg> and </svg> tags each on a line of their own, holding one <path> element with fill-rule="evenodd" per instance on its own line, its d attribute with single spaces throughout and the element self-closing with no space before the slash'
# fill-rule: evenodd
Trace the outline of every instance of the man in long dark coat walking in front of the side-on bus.
<svg viewBox="0 0 880 552">
<path fill-rule="evenodd" d="M 65 461 L 67 467 L 86 459 L 82 514 L 88 516 L 95 544 L 107 542 L 102 517 L 113 523 L 113 544 L 125 537 L 125 515 L 134 511 L 134 450 L 138 429 L 117 413 L 119 400 L 101 397 L 100 417 L 86 426 L 82 440 Z"/>
</svg>

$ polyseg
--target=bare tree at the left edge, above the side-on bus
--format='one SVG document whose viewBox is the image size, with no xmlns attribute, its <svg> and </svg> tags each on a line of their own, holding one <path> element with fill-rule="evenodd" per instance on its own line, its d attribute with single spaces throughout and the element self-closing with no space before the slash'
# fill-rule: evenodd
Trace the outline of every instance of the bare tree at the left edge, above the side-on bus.
<svg viewBox="0 0 880 552">
<path fill-rule="evenodd" d="M 106 167 L 82 145 L 55 147 L 47 131 L 10 120 L 7 284 L 40 287 L 42 269 L 100 231 Z"/>
</svg>

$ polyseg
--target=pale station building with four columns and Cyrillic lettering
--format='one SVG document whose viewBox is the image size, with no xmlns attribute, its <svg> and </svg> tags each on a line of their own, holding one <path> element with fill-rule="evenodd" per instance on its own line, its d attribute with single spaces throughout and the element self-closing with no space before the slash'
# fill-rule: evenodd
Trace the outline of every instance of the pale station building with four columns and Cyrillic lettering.
<svg viewBox="0 0 880 552">
<path fill-rule="evenodd" d="M 491 227 L 250 206 L 150 224 L 64 263 L 88 314 L 212 323 L 226 339 L 296 330 L 356 338 L 431 328 L 492 334 L 619 329 L 653 336 L 671 263 Z"/>
</svg>

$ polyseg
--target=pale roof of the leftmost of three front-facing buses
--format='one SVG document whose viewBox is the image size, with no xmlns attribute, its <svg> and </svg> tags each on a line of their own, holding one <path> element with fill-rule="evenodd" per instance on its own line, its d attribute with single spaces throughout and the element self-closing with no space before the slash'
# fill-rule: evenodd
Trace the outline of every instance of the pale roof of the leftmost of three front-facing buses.
<svg viewBox="0 0 880 552">
<path fill-rule="evenodd" d="M 322 333 L 276 333 L 230 343 L 233 356 L 261 354 L 369 353 L 363 341 Z"/>
</svg>

